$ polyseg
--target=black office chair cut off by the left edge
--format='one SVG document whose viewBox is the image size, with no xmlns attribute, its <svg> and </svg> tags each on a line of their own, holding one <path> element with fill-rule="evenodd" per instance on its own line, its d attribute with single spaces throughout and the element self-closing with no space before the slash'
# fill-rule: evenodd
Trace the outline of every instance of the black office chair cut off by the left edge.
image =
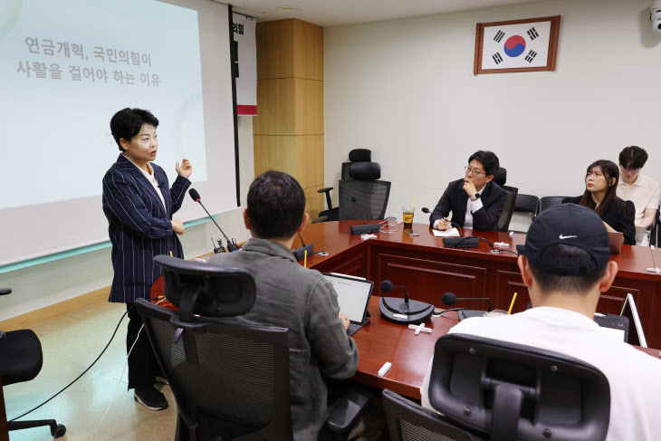
<svg viewBox="0 0 661 441">
<path fill-rule="evenodd" d="M 10 289 L 0 289 L 0 295 L 11 293 Z M 3 387 L 14 383 L 22 383 L 34 379 L 42 370 L 42 343 L 32 330 L 0 331 L 0 384 Z M 5 413 L 5 398 L 2 397 L 2 410 Z M 6 419 L 5 415 L 0 418 Z M 66 433 L 66 427 L 57 424 L 54 419 L 39 419 L 32 421 L 9 421 L 7 430 L 24 428 L 51 428 L 51 435 L 60 438 Z"/>
</svg>

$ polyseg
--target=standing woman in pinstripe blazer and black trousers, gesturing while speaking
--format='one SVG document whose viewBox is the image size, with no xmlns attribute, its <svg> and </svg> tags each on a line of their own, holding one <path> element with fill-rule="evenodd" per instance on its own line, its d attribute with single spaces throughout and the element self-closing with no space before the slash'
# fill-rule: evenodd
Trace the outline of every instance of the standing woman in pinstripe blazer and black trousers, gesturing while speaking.
<svg viewBox="0 0 661 441">
<path fill-rule="evenodd" d="M 148 110 L 115 113 L 110 131 L 121 154 L 103 177 L 102 198 L 114 270 L 109 300 L 126 303 L 129 312 L 129 389 L 135 389 L 136 401 L 150 410 L 167 408 L 168 400 L 154 388 L 160 369 L 146 333 L 139 332 L 142 319 L 133 306 L 137 299 L 148 299 L 152 283 L 162 274 L 154 256 L 184 256 L 177 238 L 184 234 L 184 224 L 172 215 L 183 202 L 193 171 L 187 159 L 177 162 L 178 176 L 169 188 L 163 168 L 149 162 L 156 159 L 157 127 Z"/>
</svg>

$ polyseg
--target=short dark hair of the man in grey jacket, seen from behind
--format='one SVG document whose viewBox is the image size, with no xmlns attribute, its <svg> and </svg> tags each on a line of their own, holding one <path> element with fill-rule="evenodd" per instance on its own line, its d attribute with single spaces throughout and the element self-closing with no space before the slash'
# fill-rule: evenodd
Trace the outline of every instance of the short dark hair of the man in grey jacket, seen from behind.
<svg viewBox="0 0 661 441">
<path fill-rule="evenodd" d="M 296 179 L 275 170 L 254 178 L 248 190 L 248 219 L 258 238 L 291 238 L 304 214 L 305 193 Z"/>
</svg>

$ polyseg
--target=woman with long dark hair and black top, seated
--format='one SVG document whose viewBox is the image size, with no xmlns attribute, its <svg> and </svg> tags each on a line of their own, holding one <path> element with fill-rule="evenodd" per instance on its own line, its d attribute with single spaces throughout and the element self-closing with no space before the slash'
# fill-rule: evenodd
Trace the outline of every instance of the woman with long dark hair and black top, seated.
<svg viewBox="0 0 661 441">
<path fill-rule="evenodd" d="M 619 168 L 615 162 L 599 159 L 589 165 L 585 176 L 585 192 L 580 197 L 567 197 L 562 203 L 592 208 L 604 221 L 606 229 L 624 234 L 624 243 L 636 244 L 636 207 L 631 201 L 616 195 Z"/>
</svg>

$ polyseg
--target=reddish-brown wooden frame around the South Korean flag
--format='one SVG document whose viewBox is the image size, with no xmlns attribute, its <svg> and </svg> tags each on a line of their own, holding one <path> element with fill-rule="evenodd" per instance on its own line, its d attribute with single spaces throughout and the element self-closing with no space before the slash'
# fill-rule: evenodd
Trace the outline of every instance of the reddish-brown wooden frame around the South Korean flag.
<svg viewBox="0 0 661 441">
<path fill-rule="evenodd" d="M 549 35 L 549 50 L 547 54 L 546 65 L 539 67 L 516 67 L 503 69 L 483 69 L 482 60 L 484 56 L 490 56 L 484 53 L 484 29 L 493 26 L 507 26 L 510 24 L 537 24 L 551 22 L 551 34 Z M 560 15 L 552 17 L 529 18 L 524 20 L 510 20 L 507 22 L 478 23 L 475 32 L 475 60 L 473 73 L 509 73 L 509 72 L 540 72 L 555 71 L 555 61 L 558 55 L 558 36 L 560 34 Z"/>
</svg>

